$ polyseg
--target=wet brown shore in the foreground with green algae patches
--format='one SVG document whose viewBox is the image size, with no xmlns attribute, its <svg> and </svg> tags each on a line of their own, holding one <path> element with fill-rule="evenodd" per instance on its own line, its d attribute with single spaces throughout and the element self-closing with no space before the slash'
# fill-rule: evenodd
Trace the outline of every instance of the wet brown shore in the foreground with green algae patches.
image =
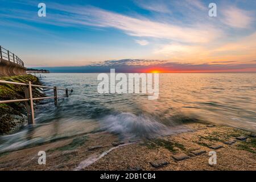
<svg viewBox="0 0 256 182">
<path fill-rule="evenodd" d="M 202 123 L 185 126 L 191 132 L 152 139 L 119 140 L 106 132 L 63 139 L 1 154 L 0 170 L 256 170 L 256 138 L 250 132 Z M 246 139 L 236 139 L 241 136 Z M 38 164 L 42 150 L 46 165 Z M 193 154 L 196 150 L 203 153 Z M 209 164 L 210 151 L 216 151 L 217 164 Z M 180 154 L 188 158 L 175 160 Z"/>
</svg>

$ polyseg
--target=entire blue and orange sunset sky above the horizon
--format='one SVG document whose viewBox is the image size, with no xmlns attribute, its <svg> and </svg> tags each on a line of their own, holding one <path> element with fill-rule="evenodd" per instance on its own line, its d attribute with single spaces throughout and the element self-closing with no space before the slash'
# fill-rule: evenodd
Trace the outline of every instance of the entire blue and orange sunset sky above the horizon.
<svg viewBox="0 0 256 182">
<path fill-rule="evenodd" d="M 256 72 L 255 9 L 254 0 L 0 0 L 0 45 L 52 72 Z"/>
</svg>

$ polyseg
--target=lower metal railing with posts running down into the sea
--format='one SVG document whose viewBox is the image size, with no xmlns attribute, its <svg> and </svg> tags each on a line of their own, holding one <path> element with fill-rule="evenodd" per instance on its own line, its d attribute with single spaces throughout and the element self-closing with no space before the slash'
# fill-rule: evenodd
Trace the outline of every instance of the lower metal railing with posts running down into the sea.
<svg viewBox="0 0 256 182">
<path fill-rule="evenodd" d="M 60 97 L 68 97 L 68 91 L 69 90 L 71 92 L 73 92 L 72 89 L 57 88 L 56 86 L 51 87 L 51 86 L 43 86 L 43 85 L 33 85 L 33 84 L 31 84 L 31 81 L 29 81 L 28 84 L 24 84 L 24 83 L 20 83 L 20 82 L 12 82 L 12 81 L 0 80 L 0 84 L 13 84 L 13 85 L 25 86 L 25 89 L 24 89 L 25 98 L 23 98 L 23 99 L 16 99 L 16 100 L 0 101 L 0 104 L 7 104 L 7 103 L 12 103 L 12 102 L 25 102 L 26 103 L 26 109 L 27 109 L 28 124 L 34 124 L 35 123 L 35 113 L 34 113 L 33 101 L 35 101 L 35 100 L 44 100 L 44 99 L 54 99 L 54 104 L 55 104 L 55 106 L 57 106 L 58 98 L 60 98 Z M 54 96 L 52 96 L 52 97 L 36 97 L 36 98 L 33 98 L 33 96 L 32 96 L 32 87 L 53 89 L 53 95 Z M 64 96 L 58 96 L 57 90 L 65 90 L 65 95 Z"/>
</svg>

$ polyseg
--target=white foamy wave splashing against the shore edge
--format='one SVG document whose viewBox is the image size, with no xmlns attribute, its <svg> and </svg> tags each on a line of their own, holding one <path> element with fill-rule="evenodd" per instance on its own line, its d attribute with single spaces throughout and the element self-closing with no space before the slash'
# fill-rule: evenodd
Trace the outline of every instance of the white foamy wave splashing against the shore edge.
<svg viewBox="0 0 256 182">
<path fill-rule="evenodd" d="M 174 121 L 170 121 L 174 123 Z M 185 126 L 166 125 L 149 115 L 110 114 L 100 120 L 103 130 L 125 138 L 152 138 L 188 131 Z"/>
</svg>

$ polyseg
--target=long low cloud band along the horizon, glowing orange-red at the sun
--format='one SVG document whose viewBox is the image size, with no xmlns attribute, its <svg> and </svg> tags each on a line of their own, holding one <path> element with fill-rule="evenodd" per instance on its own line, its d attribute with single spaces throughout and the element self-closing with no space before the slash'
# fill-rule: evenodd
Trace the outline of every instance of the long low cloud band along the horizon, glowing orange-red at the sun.
<svg viewBox="0 0 256 182">
<path fill-rule="evenodd" d="M 81 72 L 97 73 L 110 72 L 110 68 L 115 68 L 115 72 L 122 73 L 141 73 L 151 72 L 161 68 L 162 72 L 256 72 L 256 64 L 181 64 L 160 60 L 141 60 L 141 59 L 124 59 L 110 60 L 103 63 L 95 63 L 83 67 L 48 67 L 51 72 Z"/>
</svg>

